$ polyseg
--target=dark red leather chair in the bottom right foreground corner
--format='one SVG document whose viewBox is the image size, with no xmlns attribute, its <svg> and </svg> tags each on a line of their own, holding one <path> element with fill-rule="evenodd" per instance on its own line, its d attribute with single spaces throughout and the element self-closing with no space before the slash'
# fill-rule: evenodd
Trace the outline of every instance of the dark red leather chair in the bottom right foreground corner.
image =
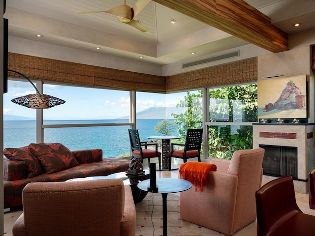
<svg viewBox="0 0 315 236">
<path fill-rule="evenodd" d="M 274 179 L 256 191 L 257 236 L 315 236 L 315 216 L 296 204 L 292 176 Z"/>
</svg>

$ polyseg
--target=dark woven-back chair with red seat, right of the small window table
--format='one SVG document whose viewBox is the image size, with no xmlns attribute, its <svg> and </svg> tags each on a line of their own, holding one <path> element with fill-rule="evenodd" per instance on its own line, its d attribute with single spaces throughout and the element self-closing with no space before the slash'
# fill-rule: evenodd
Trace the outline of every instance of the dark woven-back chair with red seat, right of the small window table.
<svg viewBox="0 0 315 236">
<path fill-rule="evenodd" d="M 172 144 L 169 155 L 169 170 L 171 170 L 172 157 L 183 159 L 184 163 L 188 158 L 197 157 L 200 162 L 200 149 L 202 143 L 203 129 L 188 129 L 185 144 Z M 182 146 L 183 150 L 175 150 L 174 146 Z"/>
</svg>

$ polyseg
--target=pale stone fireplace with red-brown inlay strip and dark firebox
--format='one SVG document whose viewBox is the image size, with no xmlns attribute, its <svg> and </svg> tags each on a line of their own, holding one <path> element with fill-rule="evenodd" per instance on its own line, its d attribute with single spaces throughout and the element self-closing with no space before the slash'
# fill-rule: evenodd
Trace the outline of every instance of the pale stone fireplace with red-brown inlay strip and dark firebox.
<svg viewBox="0 0 315 236">
<path fill-rule="evenodd" d="M 265 149 L 262 184 L 292 175 L 295 191 L 308 192 L 308 173 L 315 164 L 313 132 L 314 123 L 254 123 L 252 147 Z"/>
</svg>

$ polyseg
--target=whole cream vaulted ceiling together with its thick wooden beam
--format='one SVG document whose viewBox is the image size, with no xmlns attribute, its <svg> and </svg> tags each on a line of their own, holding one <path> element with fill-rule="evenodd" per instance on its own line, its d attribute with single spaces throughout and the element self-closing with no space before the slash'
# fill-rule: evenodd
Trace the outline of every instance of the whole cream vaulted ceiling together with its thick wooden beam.
<svg viewBox="0 0 315 236">
<path fill-rule="evenodd" d="M 126 0 L 126 5 L 136 1 Z M 288 48 L 287 34 L 315 28 L 314 0 L 151 0 L 135 17 L 147 32 L 108 13 L 75 14 L 122 4 L 124 0 L 6 0 L 4 17 L 11 36 L 160 65 L 250 43 L 281 52 Z M 293 27 L 295 23 L 302 24 Z"/>
</svg>

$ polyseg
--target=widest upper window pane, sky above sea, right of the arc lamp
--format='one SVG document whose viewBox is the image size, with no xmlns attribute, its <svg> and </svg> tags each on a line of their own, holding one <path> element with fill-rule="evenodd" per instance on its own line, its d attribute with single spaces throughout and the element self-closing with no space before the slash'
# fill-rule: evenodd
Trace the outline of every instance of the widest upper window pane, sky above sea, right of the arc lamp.
<svg viewBox="0 0 315 236">
<path fill-rule="evenodd" d="M 65 103 L 43 110 L 44 124 L 61 123 L 122 123 L 129 122 L 129 91 L 95 89 L 44 84 L 45 94 L 65 100 Z"/>
</svg>

